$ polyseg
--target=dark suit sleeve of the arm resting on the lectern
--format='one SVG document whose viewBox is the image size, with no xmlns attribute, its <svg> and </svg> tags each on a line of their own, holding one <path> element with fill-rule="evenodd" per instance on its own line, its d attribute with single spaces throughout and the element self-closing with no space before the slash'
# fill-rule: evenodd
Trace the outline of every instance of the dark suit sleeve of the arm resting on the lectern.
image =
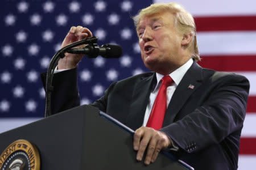
<svg viewBox="0 0 256 170">
<path fill-rule="evenodd" d="M 248 80 L 229 74 L 216 81 L 218 88 L 200 107 L 161 129 L 186 152 L 203 150 L 242 129 L 249 94 Z"/>
</svg>

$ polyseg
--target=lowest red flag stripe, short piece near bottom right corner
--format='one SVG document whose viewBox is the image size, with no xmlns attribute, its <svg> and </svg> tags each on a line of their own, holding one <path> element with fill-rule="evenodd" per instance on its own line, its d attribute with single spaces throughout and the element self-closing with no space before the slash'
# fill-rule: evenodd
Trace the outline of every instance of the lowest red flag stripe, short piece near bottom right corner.
<svg viewBox="0 0 256 170">
<path fill-rule="evenodd" d="M 240 154 L 256 155 L 256 138 L 241 138 Z"/>
</svg>

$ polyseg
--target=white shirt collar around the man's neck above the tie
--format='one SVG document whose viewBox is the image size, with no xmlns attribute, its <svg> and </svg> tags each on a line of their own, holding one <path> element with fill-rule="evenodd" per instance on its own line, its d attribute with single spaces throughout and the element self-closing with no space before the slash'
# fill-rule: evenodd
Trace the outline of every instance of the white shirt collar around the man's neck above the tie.
<svg viewBox="0 0 256 170">
<path fill-rule="evenodd" d="M 193 59 L 190 58 L 187 62 L 184 63 L 184 65 L 180 66 L 179 68 L 177 68 L 176 70 L 172 71 L 172 73 L 170 73 L 169 75 L 171 76 L 172 80 L 174 80 L 175 86 L 178 86 L 181 79 L 183 78 L 183 76 L 185 75 L 185 73 L 188 71 L 188 69 L 192 66 L 193 63 Z M 158 88 L 160 80 L 163 78 L 164 75 L 156 73 L 156 86 L 154 91 L 156 90 L 156 88 Z"/>
</svg>

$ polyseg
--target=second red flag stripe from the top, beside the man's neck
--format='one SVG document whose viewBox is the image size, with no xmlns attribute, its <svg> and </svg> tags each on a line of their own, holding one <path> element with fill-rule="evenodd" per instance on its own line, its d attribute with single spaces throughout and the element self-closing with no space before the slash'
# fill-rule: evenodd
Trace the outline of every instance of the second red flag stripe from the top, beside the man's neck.
<svg viewBox="0 0 256 170">
<path fill-rule="evenodd" d="M 256 71 L 256 55 L 201 56 L 201 58 L 199 64 L 209 69 L 218 71 Z"/>
</svg>

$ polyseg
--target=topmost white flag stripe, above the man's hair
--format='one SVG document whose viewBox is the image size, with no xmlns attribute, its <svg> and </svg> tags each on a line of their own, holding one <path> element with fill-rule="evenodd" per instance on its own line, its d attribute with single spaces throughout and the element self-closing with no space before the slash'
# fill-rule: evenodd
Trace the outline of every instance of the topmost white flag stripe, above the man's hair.
<svg viewBox="0 0 256 170">
<path fill-rule="evenodd" d="M 169 0 L 155 0 L 154 2 L 171 2 Z M 254 15 L 256 14 L 255 0 L 176 0 L 194 16 L 202 15 Z"/>
</svg>

